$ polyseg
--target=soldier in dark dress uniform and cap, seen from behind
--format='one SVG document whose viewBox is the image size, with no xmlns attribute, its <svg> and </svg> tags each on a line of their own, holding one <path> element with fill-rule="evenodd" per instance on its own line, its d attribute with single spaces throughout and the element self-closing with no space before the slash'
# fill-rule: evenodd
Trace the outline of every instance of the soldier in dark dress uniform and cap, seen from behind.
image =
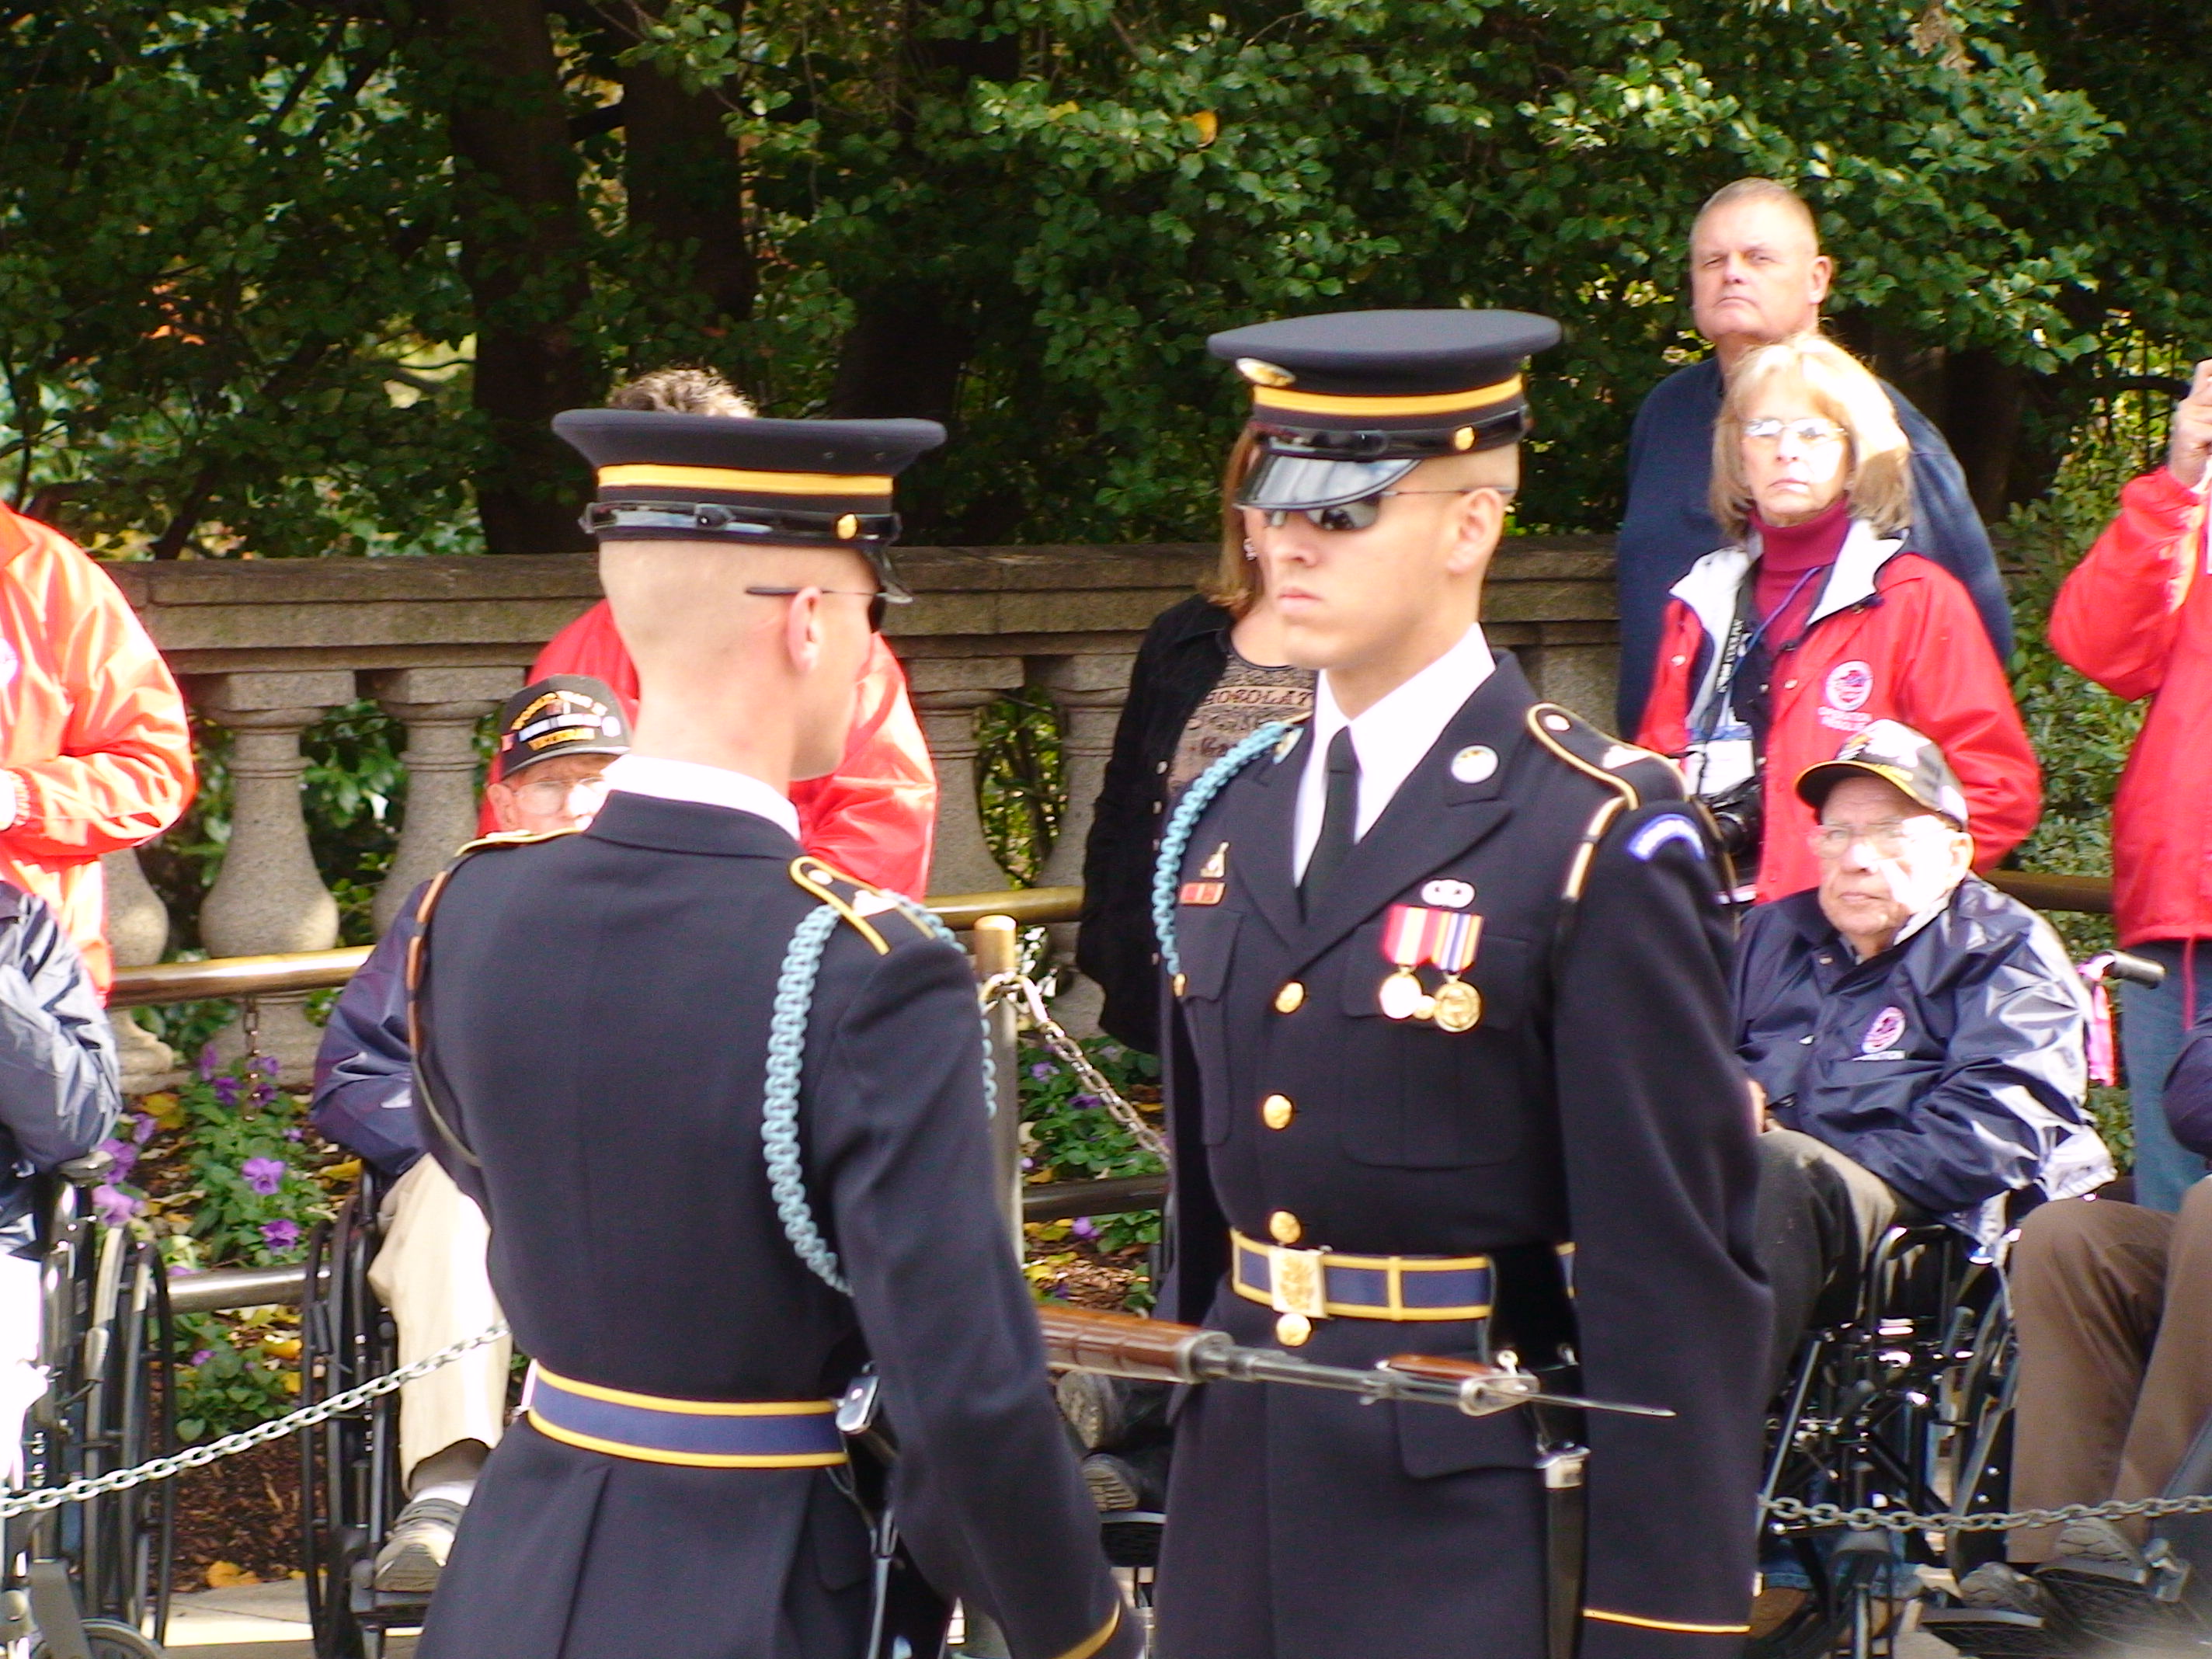
<svg viewBox="0 0 2212 1659">
<path fill-rule="evenodd" d="M 588 830 L 482 845 L 418 911 L 416 1099 L 533 1360 L 420 1652 L 872 1652 L 878 1533 L 832 1411 L 867 1374 L 927 1586 L 1015 1659 L 1128 1659 L 991 1201 L 967 960 L 803 856 L 785 799 L 836 765 L 905 597 L 891 482 L 945 434 L 626 409 L 555 429 L 597 467 L 586 522 L 641 710 Z M 931 1659 L 914 1573 L 885 1573 L 911 1648 L 874 1650 Z"/>
</svg>

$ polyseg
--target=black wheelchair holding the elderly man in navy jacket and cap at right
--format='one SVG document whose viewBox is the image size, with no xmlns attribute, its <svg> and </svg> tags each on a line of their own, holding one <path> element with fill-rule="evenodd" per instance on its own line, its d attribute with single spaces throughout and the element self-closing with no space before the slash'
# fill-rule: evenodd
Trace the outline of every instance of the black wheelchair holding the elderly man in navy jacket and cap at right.
<svg viewBox="0 0 2212 1659">
<path fill-rule="evenodd" d="M 2017 1387 L 2008 1243 L 1984 1250 L 1942 1225 L 1898 1225 L 1880 1239 L 1858 1305 L 1805 1338 L 1770 1409 L 1763 1500 L 2004 1509 Z M 2002 1533 L 1790 1531 L 1765 1520 L 1763 1582 L 1796 1575 L 1805 1599 L 1747 1652 L 1874 1659 L 1889 1648 L 1920 1568 L 1964 1575 L 2002 1551 Z"/>
</svg>

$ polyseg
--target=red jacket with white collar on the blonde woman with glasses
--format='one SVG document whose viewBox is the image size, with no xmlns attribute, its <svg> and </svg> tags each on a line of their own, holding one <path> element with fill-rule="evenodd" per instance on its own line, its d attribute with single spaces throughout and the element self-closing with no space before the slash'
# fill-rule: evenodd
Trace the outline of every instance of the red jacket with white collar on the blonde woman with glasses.
<svg viewBox="0 0 2212 1659">
<path fill-rule="evenodd" d="M 1723 546 L 1674 584 L 1637 734 L 1644 748 L 1672 757 L 1690 748 L 1690 714 L 1714 672 L 1717 639 L 1750 580 L 1752 555 Z M 1820 860 L 1805 845 L 1814 812 L 1796 796 L 1798 772 L 1880 719 L 1924 732 L 1951 761 L 1966 790 L 1978 869 L 2035 827 L 2042 772 L 1973 599 L 1940 564 L 1854 522 L 1803 639 L 1774 664 L 1759 902 L 1820 883 Z"/>
</svg>

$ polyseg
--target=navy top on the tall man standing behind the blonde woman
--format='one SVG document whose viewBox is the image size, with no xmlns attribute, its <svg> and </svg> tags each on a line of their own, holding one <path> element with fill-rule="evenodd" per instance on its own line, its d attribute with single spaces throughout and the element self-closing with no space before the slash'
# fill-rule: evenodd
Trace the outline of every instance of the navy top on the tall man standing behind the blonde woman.
<svg viewBox="0 0 2212 1659">
<path fill-rule="evenodd" d="M 1997 657 L 2011 657 L 2013 613 L 1997 577 L 1997 555 L 1989 551 L 1989 533 L 1973 511 L 1973 495 L 1966 493 L 1966 473 L 1929 418 L 1893 385 L 1885 383 L 1882 389 L 1896 405 L 1898 425 L 1913 447 L 1909 544 L 1966 584 Z M 1712 509 L 1705 507 L 1705 493 L 1712 489 L 1712 422 L 1719 416 L 1721 361 L 1705 358 L 1652 387 L 1628 436 L 1628 511 L 1621 515 L 1615 549 L 1621 606 L 1617 714 L 1621 732 L 1635 732 L 1644 723 L 1644 697 L 1650 692 L 1652 661 L 1659 655 L 1668 591 L 1690 573 L 1692 564 L 1728 544 L 1721 526 L 1712 522 Z"/>
</svg>

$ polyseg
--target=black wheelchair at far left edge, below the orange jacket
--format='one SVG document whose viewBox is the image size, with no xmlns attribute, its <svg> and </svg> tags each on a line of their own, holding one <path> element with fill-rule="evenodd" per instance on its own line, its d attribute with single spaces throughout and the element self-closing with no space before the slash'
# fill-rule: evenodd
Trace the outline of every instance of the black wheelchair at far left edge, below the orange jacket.
<svg viewBox="0 0 2212 1659">
<path fill-rule="evenodd" d="M 91 1188 L 111 1159 L 51 1177 L 40 1228 L 40 1365 L 24 1418 L 24 1484 L 58 1486 L 166 1455 L 175 1338 L 168 1272 L 150 1239 L 111 1225 Z M 175 1571 L 175 1484 L 148 1482 L 7 1522 L 0 1641 L 33 1659 L 159 1659 Z"/>
</svg>

